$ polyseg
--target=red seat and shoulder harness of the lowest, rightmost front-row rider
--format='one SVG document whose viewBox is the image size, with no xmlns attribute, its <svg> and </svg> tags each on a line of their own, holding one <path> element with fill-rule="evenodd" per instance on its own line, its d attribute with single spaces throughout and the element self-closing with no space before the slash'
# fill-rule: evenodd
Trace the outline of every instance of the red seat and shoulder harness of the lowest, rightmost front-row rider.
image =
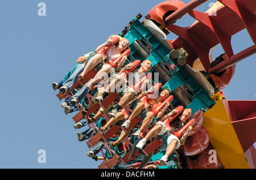
<svg viewBox="0 0 256 180">
<path fill-rule="evenodd" d="M 188 126 L 191 126 L 193 122 L 195 121 L 194 118 L 189 119 L 187 123 L 184 123 L 184 126 L 179 125 L 172 125 L 171 122 L 174 120 L 177 115 L 179 115 L 183 111 L 183 106 L 177 106 L 175 108 L 178 112 L 171 115 L 171 117 L 168 117 L 163 121 L 164 125 L 166 125 L 167 129 L 175 135 L 177 138 L 180 138 L 185 131 L 187 131 Z M 164 144 L 163 139 L 161 139 L 159 136 L 157 136 L 156 139 L 154 139 L 150 144 L 147 145 L 146 148 L 142 150 L 142 152 L 148 156 L 152 151 L 155 151 L 156 148 L 160 147 L 160 145 Z"/>
</svg>

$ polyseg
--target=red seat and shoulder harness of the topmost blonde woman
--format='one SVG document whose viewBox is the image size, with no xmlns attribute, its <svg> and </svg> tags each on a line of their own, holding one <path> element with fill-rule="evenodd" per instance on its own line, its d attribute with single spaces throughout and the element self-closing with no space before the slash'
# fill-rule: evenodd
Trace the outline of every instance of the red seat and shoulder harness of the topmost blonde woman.
<svg viewBox="0 0 256 180">
<path fill-rule="evenodd" d="M 100 53 L 103 57 L 102 62 L 99 63 L 98 65 L 96 65 L 96 67 L 94 67 L 88 73 L 86 73 L 86 76 L 84 76 L 84 78 L 77 79 L 77 81 L 73 84 L 72 88 L 69 91 L 67 91 L 66 93 L 64 93 L 64 95 L 62 95 L 60 92 L 57 93 L 56 96 L 59 98 L 59 100 L 61 100 L 65 96 L 69 95 L 69 93 L 71 93 L 75 88 L 79 87 L 79 85 L 83 86 L 90 79 L 92 79 L 93 76 L 95 76 L 97 74 L 98 70 L 100 70 L 102 65 L 104 65 L 104 63 L 108 63 L 110 66 L 116 67 L 119 63 L 122 62 L 122 58 L 124 55 L 126 55 L 127 57 L 130 55 L 130 52 L 131 52 L 130 49 L 126 49 L 118 58 L 116 58 L 113 62 L 110 62 L 109 58 L 105 56 L 105 52 L 108 51 L 110 48 L 112 48 L 113 45 L 117 44 L 117 42 L 119 41 L 119 38 L 113 37 L 112 40 L 113 40 L 112 44 L 109 44 L 107 42 L 100 50 L 97 51 L 97 53 Z M 88 61 L 88 59 L 86 59 L 86 61 Z M 84 64 L 85 64 L 85 62 L 84 62 Z"/>
</svg>

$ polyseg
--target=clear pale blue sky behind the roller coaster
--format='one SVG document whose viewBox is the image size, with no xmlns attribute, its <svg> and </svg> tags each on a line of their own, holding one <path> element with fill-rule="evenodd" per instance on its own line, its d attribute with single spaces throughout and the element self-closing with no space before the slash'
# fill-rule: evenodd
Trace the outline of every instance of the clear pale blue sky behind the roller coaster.
<svg viewBox="0 0 256 180">
<path fill-rule="evenodd" d="M 40 2 L 46 4 L 46 16 L 38 15 Z M 109 35 L 121 32 L 138 13 L 143 20 L 160 2 L 0 1 L 0 168 L 100 165 L 101 161 L 86 156 L 88 147 L 77 140 L 73 128 L 75 113 L 64 113 L 51 84 L 59 82 L 78 57 L 96 49 Z M 197 10 L 206 11 L 210 2 L 214 1 Z M 185 27 L 195 20 L 185 16 L 181 21 Z M 235 53 L 251 45 L 245 31 L 234 40 Z M 216 50 L 216 56 L 221 53 Z M 236 74 L 224 89 L 228 100 L 255 100 L 255 65 L 255 55 L 237 63 Z M 40 149 L 46 151 L 46 163 L 38 162 Z"/>
</svg>

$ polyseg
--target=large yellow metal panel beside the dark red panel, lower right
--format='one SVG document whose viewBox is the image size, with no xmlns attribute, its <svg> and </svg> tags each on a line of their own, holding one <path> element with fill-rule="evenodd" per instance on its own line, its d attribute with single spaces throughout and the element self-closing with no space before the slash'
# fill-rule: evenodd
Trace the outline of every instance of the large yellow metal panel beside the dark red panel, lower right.
<svg viewBox="0 0 256 180">
<path fill-rule="evenodd" d="M 204 124 L 210 135 L 210 143 L 225 168 L 250 168 L 236 131 L 230 122 L 220 93 L 212 96 L 216 105 L 204 113 Z"/>
</svg>

